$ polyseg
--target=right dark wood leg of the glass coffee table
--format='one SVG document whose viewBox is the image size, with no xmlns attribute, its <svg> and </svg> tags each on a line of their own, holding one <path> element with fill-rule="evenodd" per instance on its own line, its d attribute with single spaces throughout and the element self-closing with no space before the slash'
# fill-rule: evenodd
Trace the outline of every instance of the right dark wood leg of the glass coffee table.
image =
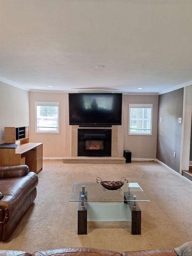
<svg viewBox="0 0 192 256">
<path fill-rule="evenodd" d="M 129 197 L 133 197 L 132 193 Z M 133 206 L 133 201 L 126 201 L 128 198 L 127 192 L 124 192 L 125 202 L 128 203 L 129 208 L 131 209 L 131 234 L 140 235 L 141 234 L 141 209 L 138 204 Z"/>
</svg>

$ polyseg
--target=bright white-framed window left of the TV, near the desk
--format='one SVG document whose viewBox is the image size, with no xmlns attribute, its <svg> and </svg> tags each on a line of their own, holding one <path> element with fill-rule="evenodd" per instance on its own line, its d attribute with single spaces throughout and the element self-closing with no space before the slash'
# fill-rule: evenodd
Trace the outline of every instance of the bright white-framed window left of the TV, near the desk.
<svg viewBox="0 0 192 256">
<path fill-rule="evenodd" d="M 59 133 L 59 102 L 35 101 L 35 133 Z"/>
</svg>

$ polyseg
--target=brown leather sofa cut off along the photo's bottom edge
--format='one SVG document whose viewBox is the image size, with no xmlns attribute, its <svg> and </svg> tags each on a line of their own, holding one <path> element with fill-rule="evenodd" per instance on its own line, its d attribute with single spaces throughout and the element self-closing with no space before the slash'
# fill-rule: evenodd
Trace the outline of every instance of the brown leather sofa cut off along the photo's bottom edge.
<svg viewBox="0 0 192 256">
<path fill-rule="evenodd" d="M 174 249 L 116 252 L 94 248 L 60 248 L 52 250 L 35 251 L 5 251 L 0 250 L 0 256 L 178 256 Z"/>
</svg>

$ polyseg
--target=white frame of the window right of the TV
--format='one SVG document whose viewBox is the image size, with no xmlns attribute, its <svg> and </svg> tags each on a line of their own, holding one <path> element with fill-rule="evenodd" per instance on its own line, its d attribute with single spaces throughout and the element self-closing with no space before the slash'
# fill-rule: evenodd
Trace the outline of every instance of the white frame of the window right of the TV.
<svg viewBox="0 0 192 256">
<path fill-rule="evenodd" d="M 131 132 L 131 108 L 150 108 L 151 109 L 151 127 L 150 133 L 144 132 Z M 153 121 L 153 104 L 129 104 L 129 118 L 128 118 L 128 135 L 152 135 L 152 121 Z"/>
</svg>

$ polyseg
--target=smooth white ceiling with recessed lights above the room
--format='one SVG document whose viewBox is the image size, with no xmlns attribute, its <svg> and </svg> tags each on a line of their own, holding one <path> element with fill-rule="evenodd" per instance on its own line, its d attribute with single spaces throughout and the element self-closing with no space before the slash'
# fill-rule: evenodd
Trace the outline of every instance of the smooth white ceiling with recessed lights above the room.
<svg viewBox="0 0 192 256">
<path fill-rule="evenodd" d="M 29 91 L 128 94 L 161 94 L 192 84 L 192 0 L 0 4 L 5 83 Z"/>
</svg>

